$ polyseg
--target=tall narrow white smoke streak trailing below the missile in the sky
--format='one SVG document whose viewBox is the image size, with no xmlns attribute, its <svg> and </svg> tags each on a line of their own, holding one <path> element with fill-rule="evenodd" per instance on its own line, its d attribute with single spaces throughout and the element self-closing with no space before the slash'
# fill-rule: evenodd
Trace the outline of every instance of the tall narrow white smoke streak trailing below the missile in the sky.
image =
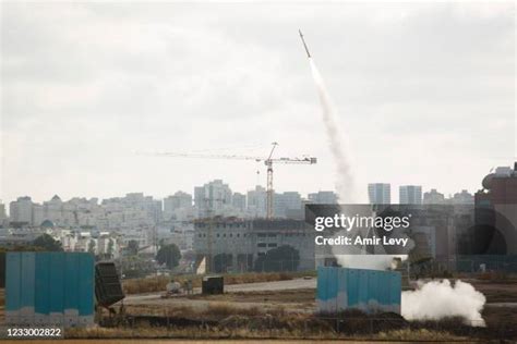
<svg viewBox="0 0 517 344">
<path fill-rule="evenodd" d="M 330 151 L 336 162 L 336 191 L 341 204 L 359 202 L 356 179 L 352 170 L 352 157 L 349 152 L 348 139 L 341 134 L 340 125 L 337 121 L 334 103 L 328 96 L 320 71 L 312 58 L 309 58 L 311 64 L 312 76 L 317 87 L 317 94 L 323 108 L 323 122 L 329 138 Z"/>
</svg>

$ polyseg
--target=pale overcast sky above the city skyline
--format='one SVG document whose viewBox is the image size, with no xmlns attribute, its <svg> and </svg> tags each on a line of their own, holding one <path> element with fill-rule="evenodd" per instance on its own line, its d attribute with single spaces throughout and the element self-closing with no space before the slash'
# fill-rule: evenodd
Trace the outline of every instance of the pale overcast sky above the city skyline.
<svg viewBox="0 0 517 344">
<path fill-rule="evenodd" d="M 306 42 L 349 136 L 360 187 L 480 188 L 516 152 L 513 2 L 2 3 L 1 195 L 164 197 L 214 179 L 275 188 L 336 176 Z M 365 197 L 364 197 L 365 199 Z"/>
</svg>

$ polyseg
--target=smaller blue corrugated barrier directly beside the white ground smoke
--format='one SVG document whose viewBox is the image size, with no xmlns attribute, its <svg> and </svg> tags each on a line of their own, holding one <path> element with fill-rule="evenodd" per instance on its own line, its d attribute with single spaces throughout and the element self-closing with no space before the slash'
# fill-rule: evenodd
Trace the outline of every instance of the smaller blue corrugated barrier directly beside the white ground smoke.
<svg viewBox="0 0 517 344">
<path fill-rule="evenodd" d="M 401 275 L 396 271 L 318 267 L 316 297 L 321 312 L 352 308 L 400 314 Z"/>
</svg>

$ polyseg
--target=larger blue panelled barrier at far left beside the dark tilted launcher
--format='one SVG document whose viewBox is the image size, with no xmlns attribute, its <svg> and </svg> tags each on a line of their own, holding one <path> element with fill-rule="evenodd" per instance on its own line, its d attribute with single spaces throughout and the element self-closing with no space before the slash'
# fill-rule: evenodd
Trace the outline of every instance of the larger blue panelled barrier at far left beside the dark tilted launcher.
<svg viewBox="0 0 517 344">
<path fill-rule="evenodd" d="M 5 322 L 94 322 L 94 257 L 87 253 L 8 253 Z"/>
</svg>

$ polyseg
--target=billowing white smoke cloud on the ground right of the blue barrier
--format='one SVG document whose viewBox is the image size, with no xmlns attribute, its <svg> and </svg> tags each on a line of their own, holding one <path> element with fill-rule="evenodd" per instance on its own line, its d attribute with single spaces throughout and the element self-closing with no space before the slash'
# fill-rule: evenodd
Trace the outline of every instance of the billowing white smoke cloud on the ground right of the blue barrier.
<svg viewBox="0 0 517 344">
<path fill-rule="evenodd" d="M 402 293 L 401 312 L 407 320 L 437 320 L 461 317 L 472 327 L 484 327 L 481 317 L 486 298 L 461 281 L 454 285 L 448 280 L 419 282 L 416 291 Z"/>
</svg>

